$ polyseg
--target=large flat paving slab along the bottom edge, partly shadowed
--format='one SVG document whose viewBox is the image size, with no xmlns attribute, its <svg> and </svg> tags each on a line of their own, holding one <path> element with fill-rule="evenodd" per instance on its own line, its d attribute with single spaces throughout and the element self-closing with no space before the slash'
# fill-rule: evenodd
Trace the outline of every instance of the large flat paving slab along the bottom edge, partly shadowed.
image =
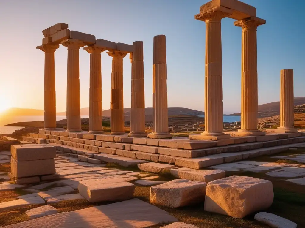
<svg viewBox="0 0 305 228">
<path fill-rule="evenodd" d="M 5 226 L 5 228 L 33 228 L 37 224 L 44 228 L 142 228 L 172 222 L 178 222 L 178 220 L 168 212 L 140 199 L 131 199 L 72 212 L 62 212 Z"/>
</svg>

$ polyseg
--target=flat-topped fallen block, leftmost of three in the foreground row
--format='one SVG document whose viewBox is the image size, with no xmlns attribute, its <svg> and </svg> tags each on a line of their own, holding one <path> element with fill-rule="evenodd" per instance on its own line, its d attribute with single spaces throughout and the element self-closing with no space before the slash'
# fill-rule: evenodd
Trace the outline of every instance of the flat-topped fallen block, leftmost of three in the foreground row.
<svg viewBox="0 0 305 228">
<path fill-rule="evenodd" d="M 78 191 L 89 202 L 123 201 L 132 198 L 135 185 L 120 178 L 91 179 L 80 181 Z"/>
</svg>

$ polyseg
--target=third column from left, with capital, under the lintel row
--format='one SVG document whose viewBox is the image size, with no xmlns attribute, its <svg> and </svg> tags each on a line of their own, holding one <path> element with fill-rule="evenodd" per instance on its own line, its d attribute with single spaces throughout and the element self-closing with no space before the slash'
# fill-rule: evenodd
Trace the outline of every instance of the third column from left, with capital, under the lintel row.
<svg viewBox="0 0 305 228">
<path fill-rule="evenodd" d="M 89 88 L 89 132 L 103 132 L 102 115 L 102 62 L 103 48 L 94 45 L 84 47 L 90 53 L 90 88 Z"/>
</svg>

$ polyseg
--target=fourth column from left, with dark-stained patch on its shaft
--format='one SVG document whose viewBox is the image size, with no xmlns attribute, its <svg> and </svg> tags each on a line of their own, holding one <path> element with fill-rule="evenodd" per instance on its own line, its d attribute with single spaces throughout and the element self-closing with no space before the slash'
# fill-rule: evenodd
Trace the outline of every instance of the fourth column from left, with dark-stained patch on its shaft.
<svg viewBox="0 0 305 228">
<path fill-rule="evenodd" d="M 110 134 L 126 134 L 124 130 L 123 104 L 123 58 L 126 56 L 126 53 L 120 51 L 109 51 L 107 54 L 112 57 Z"/>
</svg>

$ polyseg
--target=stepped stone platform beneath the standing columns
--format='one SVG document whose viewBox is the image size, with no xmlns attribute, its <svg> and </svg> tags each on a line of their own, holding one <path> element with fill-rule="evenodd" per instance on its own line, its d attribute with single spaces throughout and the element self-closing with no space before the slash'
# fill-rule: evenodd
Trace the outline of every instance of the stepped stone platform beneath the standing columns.
<svg viewBox="0 0 305 228">
<path fill-rule="evenodd" d="M 96 164 L 103 161 L 127 167 L 153 161 L 199 169 L 280 153 L 305 142 L 305 136 L 291 136 L 295 135 L 267 133 L 265 136 L 231 136 L 218 141 L 189 140 L 188 137 L 159 140 L 58 129 L 39 130 L 39 134 L 28 134 L 23 140 L 49 143 L 66 156 Z"/>
</svg>

